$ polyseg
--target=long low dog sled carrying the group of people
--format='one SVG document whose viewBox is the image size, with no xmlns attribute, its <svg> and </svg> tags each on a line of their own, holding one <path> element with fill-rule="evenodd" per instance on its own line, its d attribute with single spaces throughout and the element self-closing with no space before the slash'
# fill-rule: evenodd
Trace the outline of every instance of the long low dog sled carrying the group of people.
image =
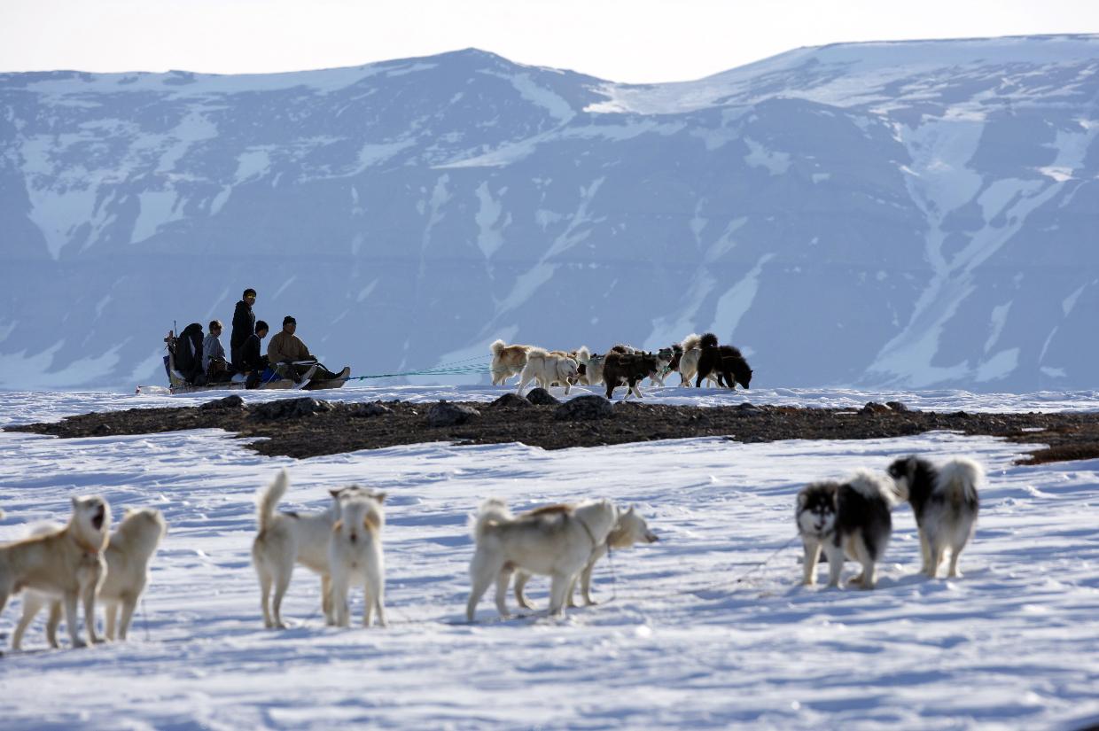
<svg viewBox="0 0 1099 731">
<path fill-rule="evenodd" d="M 249 388 L 243 374 L 235 374 L 227 380 L 208 381 L 206 379 L 206 375 L 199 372 L 197 374 L 192 373 L 191 377 L 188 378 L 185 374 L 186 368 L 178 368 L 176 363 L 176 355 L 180 351 L 186 352 L 182 354 L 185 362 L 193 359 L 193 354 L 191 353 L 193 345 L 186 335 L 186 329 L 178 336 L 175 334 L 175 331 L 169 330 L 168 335 L 164 339 L 168 348 L 168 354 L 164 356 L 164 369 L 168 374 L 169 394 L 175 396 L 177 394 L 243 390 L 245 388 Z M 351 377 L 349 366 L 344 366 L 343 370 L 337 374 L 333 374 L 332 377 L 323 377 L 321 374 L 331 374 L 332 372 L 317 361 L 301 361 L 290 363 L 289 365 L 295 367 L 287 369 L 278 367 L 271 368 L 268 366 L 259 376 L 258 383 L 251 386 L 251 389 L 320 390 L 328 388 L 342 388 Z M 304 370 L 299 372 L 299 367 L 303 367 Z M 285 375 L 288 370 L 293 373 L 295 377 Z"/>
</svg>

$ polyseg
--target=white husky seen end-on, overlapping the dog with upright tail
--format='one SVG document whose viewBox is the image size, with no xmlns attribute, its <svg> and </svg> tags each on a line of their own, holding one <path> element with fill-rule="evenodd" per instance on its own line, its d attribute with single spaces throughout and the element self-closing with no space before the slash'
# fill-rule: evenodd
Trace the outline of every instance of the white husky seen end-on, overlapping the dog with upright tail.
<svg viewBox="0 0 1099 731">
<path fill-rule="evenodd" d="M 381 553 L 381 527 L 386 516 L 381 509 L 385 492 L 340 496 L 340 520 L 332 527 L 329 540 L 329 571 L 332 576 L 332 610 L 329 624 L 347 627 L 347 590 L 364 589 L 363 627 L 370 625 L 370 613 L 378 610 L 378 623 L 386 625 L 385 556 Z"/>
</svg>

